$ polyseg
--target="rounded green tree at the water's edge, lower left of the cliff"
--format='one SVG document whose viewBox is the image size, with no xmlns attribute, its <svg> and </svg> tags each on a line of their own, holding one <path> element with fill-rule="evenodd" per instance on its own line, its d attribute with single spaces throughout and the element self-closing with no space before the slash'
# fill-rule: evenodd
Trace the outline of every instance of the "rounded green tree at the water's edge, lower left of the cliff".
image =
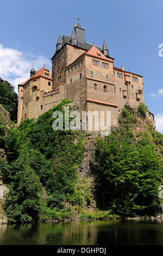
<svg viewBox="0 0 163 256">
<path fill-rule="evenodd" d="M 36 220 L 42 207 L 39 177 L 27 163 L 28 157 L 20 156 L 10 165 L 1 160 L 3 181 L 8 180 L 9 193 L 4 209 L 9 222 L 30 222 Z"/>
</svg>

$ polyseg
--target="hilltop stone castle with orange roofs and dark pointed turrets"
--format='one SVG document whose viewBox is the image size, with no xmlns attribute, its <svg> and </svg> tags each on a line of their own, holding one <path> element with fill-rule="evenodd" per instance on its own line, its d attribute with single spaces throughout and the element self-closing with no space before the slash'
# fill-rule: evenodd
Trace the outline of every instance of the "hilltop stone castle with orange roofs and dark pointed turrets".
<svg viewBox="0 0 163 256">
<path fill-rule="evenodd" d="M 124 66 L 116 68 L 105 40 L 103 48 L 86 42 L 79 19 L 71 36 L 59 34 L 56 46 L 52 76 L 45 66 L 39 71 L 33 68 L 30 78 L 18 84 L 18 124 L 70 99 L 83 111 L 110 111 L 111 125 L 116 126 L 123 106 L 145 103 L 142 76 Z M 148 119 L 154 120 L 149 111 Z"/>
</svg>

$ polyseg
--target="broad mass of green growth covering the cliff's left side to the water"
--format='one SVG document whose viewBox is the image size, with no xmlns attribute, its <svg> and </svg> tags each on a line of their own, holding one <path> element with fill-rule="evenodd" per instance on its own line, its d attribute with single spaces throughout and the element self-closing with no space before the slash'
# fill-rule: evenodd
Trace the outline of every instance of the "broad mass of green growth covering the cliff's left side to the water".
<svg viewBox="0 0 163 256">
<path fill-rule="evenodd" d="M 0 166 L 3 181 L 10 187 L 5 210 L 12 222 L 32 221 L 40 215 L 40 209 L 43 207 L 39 197 L 42 191 L 40 184 L 46 187 L 45 207 L 48 209 L 59 211 L 64 208 L 64 202 L 80 204 L 83 199 L 79 197 L 76 174 L 77 166 L 82 161 L 85 151 L 83 135 L 80 131 L 52 129 L 53 112 L 61 111 L 64 114 L 62 107 L 70 102 L 62 101 L 58 106 L 41 115 L 37 121 L 27 118 L 18 127 L 12 125 L 5 136 L 8 164 L 1 161 Z M 24 188 L 21 184 L 26 172 L 29 187 L 28 183 L 24 182 Z M 36 184 L 31 183 L 34 177 Z M 29 198 L 28 196 L 25 198 L 25 190 L 28 189 L 36 190 L 33 203 L 29 202 L 30 193 Z M 21 194 L 23 194 L 22 198 L 20 198 Z M 28 209 L 27 204 L 35 206 L 33 212 Z"/>
</svg>

